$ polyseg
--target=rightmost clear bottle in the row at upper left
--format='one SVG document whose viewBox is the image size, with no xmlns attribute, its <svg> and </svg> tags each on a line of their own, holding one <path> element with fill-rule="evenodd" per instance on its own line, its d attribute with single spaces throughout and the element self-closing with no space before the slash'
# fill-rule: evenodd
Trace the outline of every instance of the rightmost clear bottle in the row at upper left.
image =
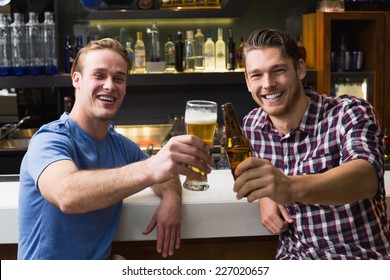
<svg viewBox="0 0 390 280">
<path fill-rule="evenodd" d="M 43 33 L 43 64 L 45 74 L 54 75 L 58 72 L 56 27 L 52 12 L 45 12 L 42 23 Z"/>
</svg>

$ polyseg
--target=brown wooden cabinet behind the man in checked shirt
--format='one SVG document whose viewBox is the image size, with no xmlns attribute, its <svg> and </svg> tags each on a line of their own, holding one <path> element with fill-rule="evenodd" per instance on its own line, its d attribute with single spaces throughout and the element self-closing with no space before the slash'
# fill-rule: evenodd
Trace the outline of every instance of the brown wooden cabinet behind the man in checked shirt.
<svg viewBox="0 0 390 280">
<path fill-rule="evenodd" d="M 390 127 L 385 103 L 389 103 L 389 23 L 386 12 L 317 12 L 303 15 L 303 44 L 307 49 L 307 66 L 317 70 L 317 90 L 331 94 L 331 53 L 337 52 L 341 34 L 350 50 L 364 54 L 363 69 L 372 75 L 372 95 L 369 101 L 374 107 L 383 128 Z M 386 24 L 385 24 L 386 23 Z M 386 27 L 387 25 L 387 27 Z M 387 59 L 387 63 L 385 60 Z M 352 73 L 353 74 L 353 73 Z"/>
</svg>

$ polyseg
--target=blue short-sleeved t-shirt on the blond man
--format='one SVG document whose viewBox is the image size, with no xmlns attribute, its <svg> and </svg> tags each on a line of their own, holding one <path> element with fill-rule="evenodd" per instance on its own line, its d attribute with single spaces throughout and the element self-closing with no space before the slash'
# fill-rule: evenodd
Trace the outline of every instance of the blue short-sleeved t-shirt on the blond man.
<svg viewBox="0 0 390 280">
<path fill-rule="evenodd" d="M 42 126 L 21 164 L 18 259 L 106 259 L 111 254 L 122 202 L 85 214 L 64 214 L 37 187 L 48 165 L 72 160 L 80 170 L 114 168 L 147 157 L 112 124 L 104 140 L 88 135 L 67 114 Z"/>
</svg>

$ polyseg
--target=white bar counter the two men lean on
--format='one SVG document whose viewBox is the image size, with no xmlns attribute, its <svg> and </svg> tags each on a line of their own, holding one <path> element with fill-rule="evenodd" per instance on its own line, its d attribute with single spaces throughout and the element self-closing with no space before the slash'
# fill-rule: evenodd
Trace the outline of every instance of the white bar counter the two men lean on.
<svg viewBox="0 0 390 280">
<path fill-rule="evenodd" d="M 184 179 L 181 177 L 182 182 Z M 209 183 L 207 191 L 183 189 L 182 238 L 269 235 L 260 223 L 258 204 L 235 198 L 230 170 L 213 170 Z M 390 172 L 385 173 L 385 185 L 390 205 Z M 18 192 L 18 181 L 0 182 L 0 243 L 17 243 Z M 150 188 L 126 198 L 115 240 L 154 240 L 155 231 L 146 236 L 142 231 L 159 202 Z M 387 213 L 390 217 L 389 207 Z"/>
</svg>

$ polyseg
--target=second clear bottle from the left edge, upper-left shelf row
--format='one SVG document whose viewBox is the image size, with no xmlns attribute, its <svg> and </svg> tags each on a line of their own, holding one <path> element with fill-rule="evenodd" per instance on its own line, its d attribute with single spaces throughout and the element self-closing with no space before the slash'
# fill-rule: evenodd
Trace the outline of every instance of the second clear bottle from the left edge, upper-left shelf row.
<svg viewBox="0 0 390 280">
<path fill-rule="evenodd" d="M 27 74 L 26 26 L 23 15 L 14 13 L 11 24 L 12 72 L 15 75 Z"/>
</svg>

